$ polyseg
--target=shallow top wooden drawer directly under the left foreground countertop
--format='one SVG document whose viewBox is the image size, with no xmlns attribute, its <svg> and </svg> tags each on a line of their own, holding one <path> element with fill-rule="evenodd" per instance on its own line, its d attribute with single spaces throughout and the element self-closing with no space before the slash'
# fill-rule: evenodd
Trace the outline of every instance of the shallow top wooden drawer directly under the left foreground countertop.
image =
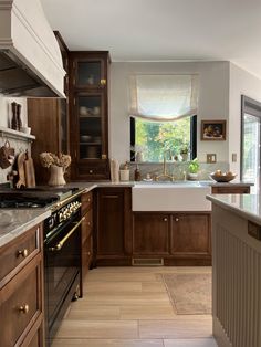
<svg viewBox="0 0 261 347">
<path fill-rule="evenodd" d="M 0 288 L 40 252 L 40 232 L 36 225 L 0 249 Z"/>
</svg>

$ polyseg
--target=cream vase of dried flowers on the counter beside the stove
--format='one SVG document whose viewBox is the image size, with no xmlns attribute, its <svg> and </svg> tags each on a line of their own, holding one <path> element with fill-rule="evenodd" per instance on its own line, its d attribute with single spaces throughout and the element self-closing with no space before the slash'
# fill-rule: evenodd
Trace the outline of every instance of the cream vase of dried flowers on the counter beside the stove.
<svg viewBox="0 0 261 347">
<path fill-rule="evenodd" d="M 40 154 L 41 165 L 50 168 L 49 186 L 64 186 L 64 172 L 71 164 L 71 156 L 60 154 L 56 156 L 53 153 L 44 151 Z"/>
</svg>

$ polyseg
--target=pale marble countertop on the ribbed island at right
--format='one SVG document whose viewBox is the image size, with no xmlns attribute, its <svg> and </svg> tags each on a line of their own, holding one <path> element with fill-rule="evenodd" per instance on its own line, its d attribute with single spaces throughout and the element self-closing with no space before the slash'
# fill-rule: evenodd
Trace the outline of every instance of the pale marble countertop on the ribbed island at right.
<svg viewBox="0 0 261 347">
<path fill-rule="evenodd" d="M 261 197 L 259 194 L 211 194 L 207 196 L 207 199 L 261 225 Z"/>
</svg>

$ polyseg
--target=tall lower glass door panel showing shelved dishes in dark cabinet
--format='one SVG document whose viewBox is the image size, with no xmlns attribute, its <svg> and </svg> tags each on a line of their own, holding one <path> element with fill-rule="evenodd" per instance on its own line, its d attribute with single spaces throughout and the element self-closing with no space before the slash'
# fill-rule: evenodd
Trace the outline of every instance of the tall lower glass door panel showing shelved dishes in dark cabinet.
<svg viewBox="0 0 261 347">
<path fill-rule="evenodd" d="M 104 144 L 104 102 L 103 93 L 76 95 L 77 157 L 84 159 L 106 159 Z"/>
</svg>

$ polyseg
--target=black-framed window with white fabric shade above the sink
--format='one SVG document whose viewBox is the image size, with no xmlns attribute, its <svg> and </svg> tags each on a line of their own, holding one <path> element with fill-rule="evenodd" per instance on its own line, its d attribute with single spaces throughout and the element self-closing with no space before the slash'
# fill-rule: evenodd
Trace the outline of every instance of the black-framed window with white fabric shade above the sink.
<svg viewBox="0 0 261 347">
<path fill-rule="evenodd" d="M 130 77 L 130 160 L 143 151 L 145 161 L 171 158 L 189 150 L 196 157 L 197 75 L 136 75 Z"/>
</svg>

